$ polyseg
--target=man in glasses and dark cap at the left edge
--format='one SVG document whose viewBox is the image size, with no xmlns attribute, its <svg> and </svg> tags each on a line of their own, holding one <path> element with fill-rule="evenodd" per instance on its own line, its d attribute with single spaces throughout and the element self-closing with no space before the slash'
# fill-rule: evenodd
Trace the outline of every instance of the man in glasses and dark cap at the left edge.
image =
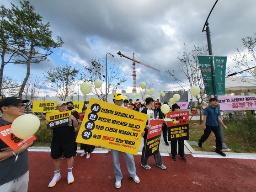
<svg viewBox="0 0 256 192">
<path fill-rule="evenodd" d="M 0 101 L 0 126 L 11 124 L 24 112 L 24 103 L 29 100 L 21 100 L 18 97 L 6 97 Z M 0 191 L 1 192 L 27 192 L 28 186 L 28 161 L 27 148 L 33 142 L 24 144 L 20 149 L 11 150 L 7 144 L 0 139 Z M 18 158 L 16 159 L 16 156 Z"/>
</svg>

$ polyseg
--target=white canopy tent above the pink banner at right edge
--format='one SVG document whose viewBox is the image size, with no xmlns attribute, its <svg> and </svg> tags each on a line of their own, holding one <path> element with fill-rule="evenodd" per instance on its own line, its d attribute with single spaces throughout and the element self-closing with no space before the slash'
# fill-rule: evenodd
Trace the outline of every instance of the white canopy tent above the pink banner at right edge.
<svg viewBox="0 0 256 192">
<path fill-rule="evenodd" d="M 226 93 L 243 93 L 256 91 L 256 79 L 229 77 L 225 79 Z"/>
</svg>

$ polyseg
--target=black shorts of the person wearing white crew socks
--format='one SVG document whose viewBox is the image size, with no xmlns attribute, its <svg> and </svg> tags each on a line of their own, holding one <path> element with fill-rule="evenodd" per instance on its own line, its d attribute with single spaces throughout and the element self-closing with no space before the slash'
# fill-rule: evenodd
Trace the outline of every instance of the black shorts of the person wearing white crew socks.
<svg viewBox="0 0 256 192">
<path fill-rule="evenodd" d="M 74 142 L 59 144 L 52 143 L 51 144 L 51 157 L 52 159 L 59 159 L 62 155 L 65 158 L 70 158 L 74 153 Z"/>
</svg>

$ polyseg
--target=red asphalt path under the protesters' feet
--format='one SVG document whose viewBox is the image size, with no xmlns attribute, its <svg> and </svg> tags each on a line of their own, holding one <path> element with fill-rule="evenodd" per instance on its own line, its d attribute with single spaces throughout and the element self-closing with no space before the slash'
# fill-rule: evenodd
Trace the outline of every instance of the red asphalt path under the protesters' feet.
<svg viewBox="0 0 256 192">
<path fill-rule="evenodd" d="M 85 155 L 86 156 L 86 155 Z M 53 160 L 49 152 L 29 152 L 29 192 L 256 192 L 256 160 L 195 158 L 186 155 L 187 162 L 162 156 L 167 170 L 155 166 L 149 158 L 151 170 L 140 166 L 141 155 L 134 155 L 140 183 L 129 178 L 123 156 L 122 186 L 115 188 L 111 153 L 92 153 L 90 159 L 77 155 L 74 161 L 74 183 L 67 184 L 67 162 L 62 160 L 61 180 L 48 188 L 53 177 Z M 178 155 L 176 156 L 178 157 Z"/>
</svg>

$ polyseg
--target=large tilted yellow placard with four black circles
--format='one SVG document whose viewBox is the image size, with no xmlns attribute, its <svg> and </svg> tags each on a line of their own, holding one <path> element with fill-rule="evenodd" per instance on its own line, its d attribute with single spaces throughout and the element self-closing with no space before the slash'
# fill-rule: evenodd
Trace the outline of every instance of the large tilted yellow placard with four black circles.
<svg viewBox="0 0 256 192">
<path fill-rule="evenodd" d="M 147 114 L 91 98 L 76 142 L 137 155 L 147 118 Z"/>
</svg>

